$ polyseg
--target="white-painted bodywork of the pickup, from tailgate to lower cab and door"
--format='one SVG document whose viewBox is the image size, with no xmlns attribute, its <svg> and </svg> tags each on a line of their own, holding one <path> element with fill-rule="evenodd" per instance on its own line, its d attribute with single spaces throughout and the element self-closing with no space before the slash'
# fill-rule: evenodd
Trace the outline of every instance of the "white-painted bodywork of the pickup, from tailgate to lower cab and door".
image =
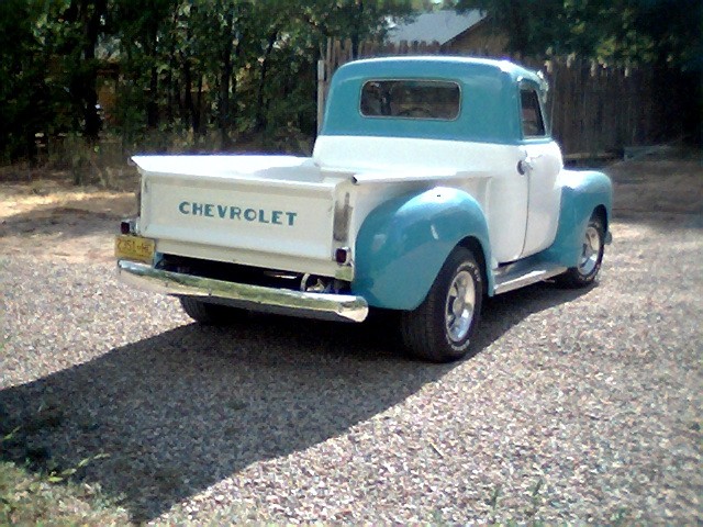
<svg viewBox="0 0 703 527">
<path fill-rule="evenodd" d="M 517 164 L 526 156 L 533 169 L 523 176 Z M 354 248 L 373 209 L 437 186 L 460 188 L 479 202 L 494 264 L 545 248 L 557 228 L 561 156 L 554 143 L 520 147 L 321 136 L 312 158 L 137 156 L 134 161 L 143 175 L 142 234 L 156 238 L 164 253 L 332 276 L 335 248 Z M 344 203 L 346 194 L 352 206 L 348 237 L 335 242 L 335 203 Z M 257 221 L 183 214 L 179 206 L 185 201 L 211 204 L 211 212 L 220 205 L 265 213 Z M 295 221 L 272 224 L 276 211 L 294 212 Z"/>
</svg>

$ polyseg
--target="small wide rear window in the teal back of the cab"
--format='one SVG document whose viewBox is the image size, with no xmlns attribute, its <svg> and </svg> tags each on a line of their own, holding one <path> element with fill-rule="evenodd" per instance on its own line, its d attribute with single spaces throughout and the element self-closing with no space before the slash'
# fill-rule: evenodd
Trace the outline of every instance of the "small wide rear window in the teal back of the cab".
<svg viewBox="0 0 703 527">
<path fill-rule="evenodd" d="M 366 117 L 434 119 L 459 115 L 461 91 L 456 82 L 440 80 L 369 80 L 361 88 L 361 115 Z"/>
</svg>

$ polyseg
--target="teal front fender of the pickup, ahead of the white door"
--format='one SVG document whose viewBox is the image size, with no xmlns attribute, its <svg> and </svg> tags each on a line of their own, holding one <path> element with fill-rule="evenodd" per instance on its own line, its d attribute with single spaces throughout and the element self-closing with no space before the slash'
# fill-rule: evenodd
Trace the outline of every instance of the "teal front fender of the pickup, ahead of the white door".
<svg viewBox="0 0 703 527">
<path fill-rule="evenodd" d="M 563 187 L 557 236 L 548 249 L 535 256 L 544 261 L 576 267 L 581 256 L 583 234 L 595 208 L 605 208 L 606 225 L 610 223 L 613 186 L 607 176 L 596 171 L 567 170 L 560 179 Z"/>
</svg>

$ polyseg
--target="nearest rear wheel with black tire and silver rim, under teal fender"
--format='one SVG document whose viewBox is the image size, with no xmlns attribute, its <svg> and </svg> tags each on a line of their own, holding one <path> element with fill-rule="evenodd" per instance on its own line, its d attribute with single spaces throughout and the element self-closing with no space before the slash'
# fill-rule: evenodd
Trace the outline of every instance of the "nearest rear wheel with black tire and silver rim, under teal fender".
<svg viewBox="0 0 703 527">
<path fill-rule="evenodd" d="M 483 273 L 473 254 L 464 247 L 455 248 L 424 302 L 401 314 L 403 344 L 422 360 L 461 359 L 469 352 L 482 300 Z"/>
</svg>

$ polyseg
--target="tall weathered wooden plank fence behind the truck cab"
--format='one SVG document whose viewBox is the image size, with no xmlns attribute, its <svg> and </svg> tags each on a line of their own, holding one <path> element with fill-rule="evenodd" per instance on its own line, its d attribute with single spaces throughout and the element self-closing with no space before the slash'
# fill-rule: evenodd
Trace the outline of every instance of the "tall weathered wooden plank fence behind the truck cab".
<svg viewBox="0 0 703 527">
<path fill-rule="evenodd" d="M 438 43 L 361 42 L 356 57 L 393 55 L 439 55 Z M 461 52 L 486 56 L 481 52 Z M 319 123 L 332 74 L 354 59 L 350 42 L 328 41 L 319 65 Z M 505 58 L 499 57 L 499 58 Z M 538 69 L 549 81 L 548 114 L 553 134 L 568 159 L 622 155 L 629 146 L 645 146 L 680 139 L 683 135 L 685 85 L 667 68 L 604 67 L 589 60 L 507 57 Z"/>
</svg>

